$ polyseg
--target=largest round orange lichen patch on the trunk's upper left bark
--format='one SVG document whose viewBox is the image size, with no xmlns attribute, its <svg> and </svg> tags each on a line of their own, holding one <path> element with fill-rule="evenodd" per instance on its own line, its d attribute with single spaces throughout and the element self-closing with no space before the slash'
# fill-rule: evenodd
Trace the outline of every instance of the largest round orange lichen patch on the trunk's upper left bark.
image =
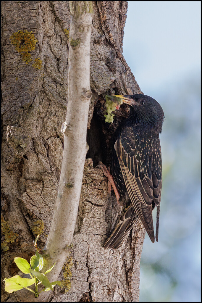
<svg viewBox="0 0 202 303">
<path fill-rule="evenodd" d="M 12 44 L 15 45 L 16 51 L 19 53 L 33 51 L 37 42 L 35 35 L 26 30 L 24 30 L 24 32 L 21 30 L 15 32 L 11 35 L 10 39 L 12 40 Z"/>
</svg>

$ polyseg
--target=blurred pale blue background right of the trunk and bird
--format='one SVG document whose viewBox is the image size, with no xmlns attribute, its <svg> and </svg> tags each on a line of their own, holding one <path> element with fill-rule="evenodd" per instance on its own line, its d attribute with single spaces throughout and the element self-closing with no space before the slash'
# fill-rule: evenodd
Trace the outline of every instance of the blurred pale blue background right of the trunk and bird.
<svg viewBox="0 0 202 303">
<path fill-rule="evenodd" d="M 123 54 L 165 114 L 159 242 L 146 235 L 140 301 L 200 302 L 200 1 L 129 1 Z"/>
</svg>

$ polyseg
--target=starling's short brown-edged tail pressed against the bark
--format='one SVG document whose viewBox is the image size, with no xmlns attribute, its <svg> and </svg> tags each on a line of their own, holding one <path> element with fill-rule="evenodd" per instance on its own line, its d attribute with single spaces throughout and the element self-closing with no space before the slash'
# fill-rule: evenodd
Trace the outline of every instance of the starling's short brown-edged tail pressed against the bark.
<svg viewBox="0 0 202 303">
<path fill-rule="evenodd" d="M 103 247 L 114 249 L 119 248 L 138 219 L 139 218 L 132 207 L 123 209 L 116 228 L 111 236 L 107 239 Z"/>
</svg>

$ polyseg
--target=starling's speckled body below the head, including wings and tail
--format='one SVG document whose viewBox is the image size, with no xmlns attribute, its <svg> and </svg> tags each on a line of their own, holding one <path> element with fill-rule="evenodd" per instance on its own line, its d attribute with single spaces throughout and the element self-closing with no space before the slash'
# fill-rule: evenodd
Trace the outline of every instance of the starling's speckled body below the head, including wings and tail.
<svg viewBox="0 0 202 303">
<path fill-rule="evenodd" d="M 119 222 L 104 248 L 119 248 L 140 219 L 154 242 L 152 210 L 157 206 L 156 241 L 161 201 L 161 147 L 159 134 L 137 125 L 117 130 L 111 170 L 121 201 L 125 201 Z"/>
</svg>

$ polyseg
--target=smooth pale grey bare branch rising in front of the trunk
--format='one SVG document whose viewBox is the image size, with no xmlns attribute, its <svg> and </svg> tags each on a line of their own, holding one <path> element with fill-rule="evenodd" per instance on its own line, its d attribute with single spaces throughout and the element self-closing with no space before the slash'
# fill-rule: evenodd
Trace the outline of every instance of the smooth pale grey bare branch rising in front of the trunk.
<svg viewBox="0 0 202 303">
<path fill-rule="evenodd" d="M 58 196 L 48 235 L 46 250 L 55 271 L 51 281 L 57 279 L 65 263 L 68 247 L 75 230 L 81 193 L 84 161 L 88 151 L 86 143 L 90 88 L 90 38 L 93 18 L 91 2 L 70 2 L 71 24 L 68 60 L 68 107 L 62 125 L 64 151 Z"/>
</svg>

